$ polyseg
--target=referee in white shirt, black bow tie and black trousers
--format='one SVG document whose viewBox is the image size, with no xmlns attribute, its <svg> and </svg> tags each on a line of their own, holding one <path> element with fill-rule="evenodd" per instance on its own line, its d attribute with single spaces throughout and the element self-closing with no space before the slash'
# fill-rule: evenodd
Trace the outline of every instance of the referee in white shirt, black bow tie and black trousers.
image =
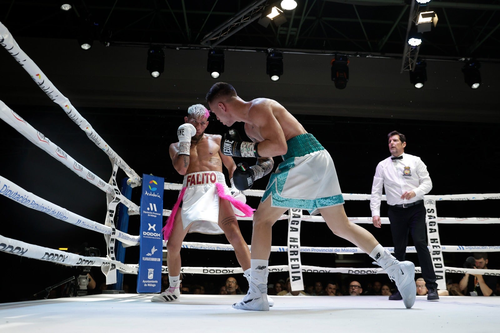
<svg viewBox="0 0 500 333">
<path fill-rule="evenodd" d="M 432 181 L 427 166 L 420 157 L 404 153 L 406 137 L 398 131 L 388 135 L 391 156 L 380 161 L 375 169 L 371 186 L 370 209 L 373 225 L 380 227 L 380 197 L 382 186 L 385 189 L 388 204 L 390 231 L 394 243 L 394 256 L 403 261 L 408 244 L 408 232 L 411 233 L 422 277 L 427 287 L 427 299 L 439 299 L 434 268 L 427 249 L 425 208 L 423 195 L 432 188 Z M 399 291 L 389 299 L 402 299 Z"/>
</svg>

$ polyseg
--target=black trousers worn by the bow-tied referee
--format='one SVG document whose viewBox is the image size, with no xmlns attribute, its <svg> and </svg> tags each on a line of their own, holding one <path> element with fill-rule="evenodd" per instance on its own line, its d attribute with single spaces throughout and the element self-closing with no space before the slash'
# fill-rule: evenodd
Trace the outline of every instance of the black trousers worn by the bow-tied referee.
<svg viewBox="0 0 500 333">
<path fill-rule="evenodd" d="M 425 225 L 425 207 L 423 203 L 406 208 L 389 206 L 388 217 L 396 259 L 399 261 L 404 260 L 406 246 L 408 245 L 408 233 L 410 233 L 425 285 L 427 289 L 437 288 L 436 274 L 427 248 L 427 227 Z"/>
</svg>

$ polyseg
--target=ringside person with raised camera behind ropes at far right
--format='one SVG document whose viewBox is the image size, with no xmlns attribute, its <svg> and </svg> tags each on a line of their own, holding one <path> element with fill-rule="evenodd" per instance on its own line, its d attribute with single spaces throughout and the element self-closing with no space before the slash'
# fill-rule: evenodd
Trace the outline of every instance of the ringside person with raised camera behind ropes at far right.
<svg viewBox="0 0 500 333">
<path fill-rule="evenodd" d="M 463 268 L 488 269 L 488 253 L 475 252 L 463 263 Z M 494 296 L 496 276 L 465 273 L 459 283 L 466 296 Z"/>
</svg>

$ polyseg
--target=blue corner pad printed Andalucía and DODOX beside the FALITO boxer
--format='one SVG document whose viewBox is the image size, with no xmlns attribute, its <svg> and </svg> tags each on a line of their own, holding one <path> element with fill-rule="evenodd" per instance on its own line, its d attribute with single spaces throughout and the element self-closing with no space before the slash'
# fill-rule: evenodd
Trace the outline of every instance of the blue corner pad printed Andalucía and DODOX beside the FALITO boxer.
<svg viewBox="0 0 500 333">
<path fill-rule="evenodd" d="M 163 257 L 163 183 L 161 177 L 142 175 L 140 196 L 140 244 L 137 292 L 161 291 Z"/>
</svg>

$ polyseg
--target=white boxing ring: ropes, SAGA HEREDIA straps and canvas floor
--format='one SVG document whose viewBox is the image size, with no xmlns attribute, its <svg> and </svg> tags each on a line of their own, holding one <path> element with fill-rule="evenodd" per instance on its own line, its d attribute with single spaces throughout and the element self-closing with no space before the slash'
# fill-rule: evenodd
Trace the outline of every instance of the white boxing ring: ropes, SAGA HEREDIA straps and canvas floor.
<svg viewBox="0 0 500 333">
<path fill-rule="evenodd" d="M 72 266 L 101 267 L 106 276 L 106 283 L 118 282 L 119 274 L 137 274 L 138 264 L 125 263 L 116 256 L 116 246 L 137 246 L 140 244 L 139 235 L 131 235 L 127 230 L 116 227 L 118 204 L 121 203 L 125 213 L 129 216 L 139 214 L 140 206 L 131 201 L 130 196 L 124 194 L 123 188 L 118 188 L 116 173 L 122 169 L 128 177 L 127 186 L 138 189 L 142 184 L 141 177 L 104 141 L 92 128 L 90 123 L 76 110 L 70 101 L 55 88 L 47 76 L 36 64 L 19 48 L 4 25 L 0 23 L 0 44 L 22 65 L 45 94 L 57 103 L 68 117 L 85 132 L 100 150 L 102 150 L 112 165 L 112 174 L 108 181 L 98 177 L 94 172 L 79 163 L 66 153 L 63 147 L 51 141 L 44 133 L 26 122 L 22 115 L 11 110 L 0 101 L 0 117 L 7 124 L 16 129 L 20 134 L 47 152 L 54 159 L 60 161 L 85 179 L 98 190 L 104 192 L 107 204 L 106 218 L 103 223 L 78 215 L 66 208 L 57 205 L 31 193 L 29 189 L 22 188 L 11 179 L 0 175 L 0 194 L 10 198 L 16 203 L 44 212 L 61 222 L 82 227 L 101 233 L 104 237 L 107 253 L 102 257 L 83 256 L 66 251 L 26 243 L 20 239 L 8 238 L 0 235 L 0 250 L 12 255 L 29 257 L 54 263 Z M 179 190 L 181 184 L 164 182 L 164 190 Z M 247 196 L 261 196 L 263 190 L 245 191 Z M 343 193 L 344 199 L 369 200 L 368 194 Z M 383 197 L 382 199 L 385 199 Z M 427 235 L 429 251 L 438 276 L 438 287 L 445 289 L 446 273 L 487 273 L 500 276 L 500 270 L 466 269 L 460 267 L 447 267 L 444 265 L 443 253 L 445 252 L 492 252 L 500 251 L 500 245 L 468 246 L 441 244 L 438 225 L 442 223 L 473 223 L 473 224 L 498 224 L 498 217 L 438 217 L 438 202 L 444 200 L 498 200 L 500 193 L 486 194 L 452 194 L 452 195 L 425 195 L 424 204 L 427 211 Z M 346 204 L 348 204 L 346 202 Z M 162 215 L 168 216 L 170 210 L 163 209 Z M 239 218 L 250 220 L 250 218 Z M 371 217 L 349 217 L 354 223 L 371 224 Z M 273 272 L 288 272 L 292 280 L 292 288 L 303 289 L 302 273 L 347 273 L 347 274 L 379 274 L 385 273 L 382 268 L 375 267 L 322 267 L 303 264 L 301 253 L 360 253 L 358 247 L 324 247 L 302 246 L 300 244 L 300 226 L 305 223 L 324 223 L 320 216 L 308 215 L 301 209 L 290 209 L 282 215 L 276 224 L 287 221 L 287 243 L 273 245 L 271 251 L 286 252 L 288 260 L 280 265 L 269 266 L 270 276 Z M 388 218 L 381 218 L 382 224 L 388 224 Z M 21 237 L 22 235 L 19 235 Z M 166 241 L 163 240 L 163 247 Z M 218 250 L 233 250 L 229 244 L 208 242 L 183 242 L 183 248 L 208 250 L 211 255 L 216 255 Z M 393 252 L 392 247 L 385 247 Z M 415 252 L 414 247 L 408 246 L 407 252 Z M 47 263 L 50 265 L 53 263 Z M 168 268 L 162 266 L 162 272 Z M 192 274 L 227 274 L 242 273 L 241 267 L 193 267 L 183 266 L 182 273 Z M 415 267 L 415 272 L 420 272 Z M 255 331 L 256 329 L 286 329 L 286 331 L 303 331 L 310 329 L 311 324 L 317 330 L 331 331 L 332 329 L 350 329 L 354 331 L 387 331 L 394 324 L 400 325 L 404 331 L 412 331 L 411 324 L 418 320 L 415 331 L 422 329 L 439 329 L 441 331 L 461 331 L 477 329 L 482 325 L 487 331 L 495 328 L 500 323 L 494 315 L 500 307 L 500 298 L 496 297 L 457 297 L 444 296 L 438 302 L 428 302 L 422 296 L 417 296 L 415 305 L 404 309 L 402 303 L 388 301 L 386 296 L 351 296 L 311 297 L 299 296 L 273 296 L 275 305 L 269 312 L 240 311 L 230 307 L 230 304 L 239 300 L 241 295 L 182 295 L 179 302 L 151 303 L 151 294 L 100 294 L 57 299 L 42 299 L 0 304 L 0 330 L 1 331 L 61 331 L 70 325 L 73 331 L 88 331 L 89 329 L 102 330 L 102 327 L 112 327 L 122 331 L 142 331 L 147 329 L 182 329 L 183 331 L 199 331 L 200 327 L 213 327 L 213 330 L 242 330 Z M 387 311 L 388 310 L 388 311 Z M 416 312 L 419 311 L 419 312 Z M 424 312 L 421 312 L 424 311 Z M 416 313 L 415 313 L 416 312 Z M 271 315 L 275 314 L 275 315 Z M 425 316 L 425 320 L 419 320 Z M 195 318 L 195 320 L 192 320 Z M 366 320 L 369 318 L 369 320 Z M 248 324 L 246 319 L 252 320 Z M 330 320 L 331 319 L 331 320 Z M 390 326 L 387 326 L 390 324 Z M 408 325 L 409 324 L 409 325 Z M 112 325 L 112 326 L 110 326 Z M 487 326 L 484 326 L 487 325 Z M 226 328 L 227 327 L 227 328 Z M 489 328 L 488 328 L 489 327 Z M 418 328 L 418 329 L 417 329 Z M 208 329 L 210 330 L 210 329 Z"/>
</svg>

